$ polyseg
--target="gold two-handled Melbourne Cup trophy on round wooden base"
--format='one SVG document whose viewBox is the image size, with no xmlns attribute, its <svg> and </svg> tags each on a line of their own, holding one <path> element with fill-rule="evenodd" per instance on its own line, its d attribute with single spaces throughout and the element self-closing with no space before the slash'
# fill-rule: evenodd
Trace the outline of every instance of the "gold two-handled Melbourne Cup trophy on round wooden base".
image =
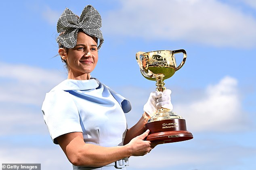
<svg viewBox="0 0 256 170">
<path fill-rule="evenodd" d="M 183 53 L 183 61 L 176 67 L 175 53 Z M 141 69 L 141 74 L 148 80 L 156 81 L 156 90 L 163 92 L 164 80 L 172 77 L 187 59 L 184 49 L 158 50 L 136 53 L 136 60 Z M 165 141 L 165 143 L 193 139 L 191 132 L 187 131 L 186 121 L 181 116 L 169 109 L 160 108 L 145 125 L 150 130 L 148 141 Z"/>
</svg>

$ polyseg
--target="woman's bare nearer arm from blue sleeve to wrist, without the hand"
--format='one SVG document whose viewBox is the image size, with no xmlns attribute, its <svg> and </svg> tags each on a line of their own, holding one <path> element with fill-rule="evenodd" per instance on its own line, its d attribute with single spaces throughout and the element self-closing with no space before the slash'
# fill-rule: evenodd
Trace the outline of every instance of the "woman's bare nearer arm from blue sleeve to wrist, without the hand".
<svg viewBox="0 0 256 170">
<path fill-rule="evenodd" d="M 69 162 L 75 166 L 105 166 L 132 155 L 131 146 L 102 147 L 84 143 L 82 133 L 67 133 L 57 138 Z"/>
</svg>

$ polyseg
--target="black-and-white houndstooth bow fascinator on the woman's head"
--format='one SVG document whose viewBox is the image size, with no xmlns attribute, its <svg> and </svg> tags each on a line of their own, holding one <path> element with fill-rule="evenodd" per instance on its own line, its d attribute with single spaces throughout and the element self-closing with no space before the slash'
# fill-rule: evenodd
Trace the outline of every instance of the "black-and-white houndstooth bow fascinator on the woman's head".
<svg viewBox="0 0 256 170">
<path fill-rule="evenodd" d="M 85 6 L 80 18 L 66 8 L 57 22 L 57 32 L 64 31 L 64 33 L 59 35 L 56 40 L 64 47 L 73 48 L 76 46 L 78 30 L 82 29 L 86 34 L 100 39 L 99 50 L 104 41 L 100 28 L 101 15 L 93 6 Z"/>
</svg>

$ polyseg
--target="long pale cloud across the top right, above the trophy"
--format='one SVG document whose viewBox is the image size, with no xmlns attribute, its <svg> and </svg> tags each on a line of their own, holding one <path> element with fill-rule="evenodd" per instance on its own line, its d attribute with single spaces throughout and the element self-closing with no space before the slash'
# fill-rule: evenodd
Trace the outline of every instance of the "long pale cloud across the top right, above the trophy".
<svg viewBox="0 0 256 170">
<path fill-rule="evenodd" d="M 103 16 L 111 35 L 255 47 L 256 18 L 217 0 L 129 0 Z"/>
</svg>

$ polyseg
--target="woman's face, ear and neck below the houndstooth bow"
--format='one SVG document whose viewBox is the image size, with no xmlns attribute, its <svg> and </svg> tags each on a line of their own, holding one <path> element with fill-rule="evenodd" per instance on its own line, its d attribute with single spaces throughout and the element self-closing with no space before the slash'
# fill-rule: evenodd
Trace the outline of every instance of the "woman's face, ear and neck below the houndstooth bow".
<svg viewBox="0 0 256 170">
<path fill-rule="evenodd" d="M 63 56 L 67 63 L 68 79 L 88 80 L 98 61 L 97 39 L 78 32 L 76 46 L 68 49 Z"/>
</svg>

